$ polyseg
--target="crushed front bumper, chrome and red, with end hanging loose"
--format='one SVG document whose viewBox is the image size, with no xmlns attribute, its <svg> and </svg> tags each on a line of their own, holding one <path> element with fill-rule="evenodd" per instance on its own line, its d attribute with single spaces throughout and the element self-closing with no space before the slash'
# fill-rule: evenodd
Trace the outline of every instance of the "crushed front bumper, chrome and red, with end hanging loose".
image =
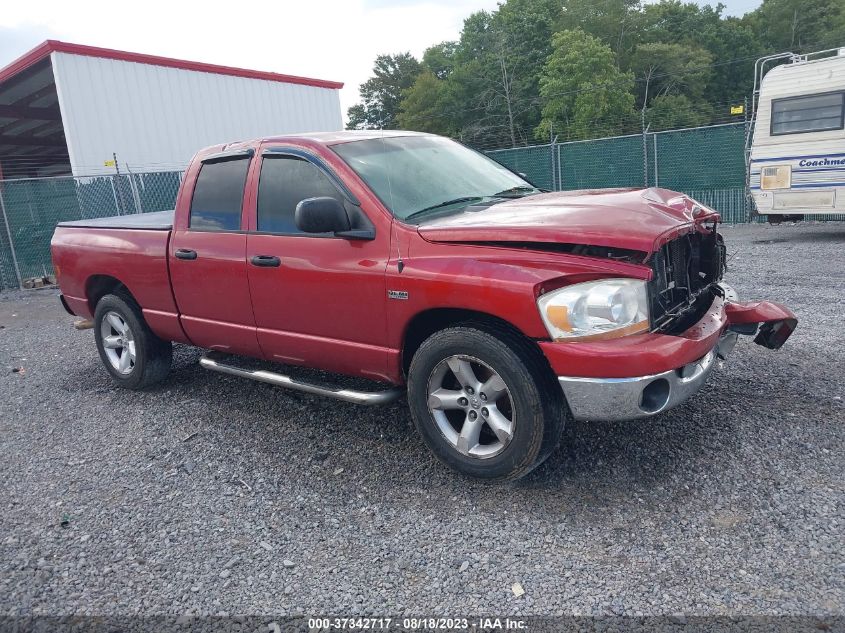
<svg viewBox="0 0 845 633">
<path fill-rule="evenodd" d="M 723 291 L 724 299 L 717 298 L 710 312 L 682 336 L 650 333 L 628 337 L 641 337 L 638 342 L 626 343 L 631 353 L 642 353 L 645 358 L 662 357 L 670 363 L 668 368 L 658 365 L 657 371 L 637 376 L 559 375 L 558 382 L 572 415 L 578 420 L 632 420 L 662 413 L 687 400 L 704 385 L 717 360 L 731 353 L 739 334 L 756 335 L 755 342 L 777 349 L 795 329 L 797 320 L 787 308 L 769 302 L 739 303 L 732 288 L 723 286 Z M 608 343 L 612 344 L 602 343 L 592 351 L 601 352 Z M 672 365 L 661 353 L 671 350 L 671 357 L 683 360 L 690 353 L 701 354 L 702 345 L 706 349 L 702 356 L 678 365 Z M 549 348 L 544 347 L 544 351 L 549 357 Z M 578 354 L 583 350 L 572 351 Z M 560 358 L 554 361 L 553 367 L 560 366 Z M 597 369 L 595 364 L 589 367 Z M 609 368 L 618 367 L 619 363 L 614 363 Z"/>
</svg>

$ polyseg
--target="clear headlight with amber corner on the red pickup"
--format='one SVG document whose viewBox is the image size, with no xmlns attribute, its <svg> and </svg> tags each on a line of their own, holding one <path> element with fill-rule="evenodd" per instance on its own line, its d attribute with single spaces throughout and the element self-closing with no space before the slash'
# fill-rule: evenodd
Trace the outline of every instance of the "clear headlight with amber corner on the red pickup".
<svg viewBox="0 0 845 633">
<path fill-rule="evenodd" d="M 554 290 L 537 299 L 556 341 L 618 338 L 647 332 L 648 294 L 640 279 L 602 279 Z"/>
</svg>

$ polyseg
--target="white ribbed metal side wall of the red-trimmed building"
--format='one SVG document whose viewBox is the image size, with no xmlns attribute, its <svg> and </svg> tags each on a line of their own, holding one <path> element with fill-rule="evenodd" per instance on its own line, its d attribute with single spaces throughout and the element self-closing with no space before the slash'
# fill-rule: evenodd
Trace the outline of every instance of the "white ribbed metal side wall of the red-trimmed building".
<svg viewBox="0 0 845 633">
<path fill-rule="evenodd" d="M 343 127 L 338 90 L 53 53 L 75 175 L 181 169 L 201 147 Z"/>
</svg>

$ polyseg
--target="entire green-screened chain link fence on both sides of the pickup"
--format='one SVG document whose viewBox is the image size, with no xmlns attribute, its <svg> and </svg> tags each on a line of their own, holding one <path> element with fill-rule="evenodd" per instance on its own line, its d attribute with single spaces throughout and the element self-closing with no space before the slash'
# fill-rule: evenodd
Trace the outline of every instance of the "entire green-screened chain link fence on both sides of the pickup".
<svg viewBox="0 0 845 633">
<path fill-rule="evenodd" d="M 745 192 L 745 124 L 551 143 L 487 154 L 549 190 L 660 186 L 716 209 L 723 222 L 753 221 Z M 52 274 L 57 223 L 175 206 L 181 171 L 0 181 L 0 288 Z M 812 216 L 845 220 L 845 215 Z M 765 221 L 758 218 L 758 221 Z"/>
</svg>

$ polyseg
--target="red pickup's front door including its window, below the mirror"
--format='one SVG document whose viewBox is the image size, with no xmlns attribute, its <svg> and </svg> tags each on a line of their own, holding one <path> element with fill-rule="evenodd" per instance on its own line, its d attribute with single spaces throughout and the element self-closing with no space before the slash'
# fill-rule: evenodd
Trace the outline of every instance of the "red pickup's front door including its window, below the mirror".
<svg viewBox="0 0 845 633">
<path fill-rule="evenodd" d="M 322 196 L 336 198 L 350 218 L 373 227 L 372 239 L 297 229 L 296 205 Z M 254 208 L 247 267 L 265 357 L 384 378 L 389 232 L 375 230 L 367 209 L 333 170 L 301 150 L 264 152 Z"/>
</svg>

